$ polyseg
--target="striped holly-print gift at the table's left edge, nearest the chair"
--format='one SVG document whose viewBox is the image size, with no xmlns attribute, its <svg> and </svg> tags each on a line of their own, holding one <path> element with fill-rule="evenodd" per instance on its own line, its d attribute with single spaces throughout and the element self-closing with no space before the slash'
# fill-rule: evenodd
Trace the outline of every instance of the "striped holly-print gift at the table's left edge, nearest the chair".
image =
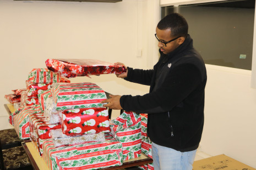
<svg viewBox="0 0 256 170">
<path fill-rule="evenodd" d="M 29 115 L 39 112 L 41 112 L 39 105 L 23 106 L 15 111 L 14 115 L 10 115 L 10 117 L 13 117 L 13 125 L 20 139 L 30 138 Z"/>
</svg>

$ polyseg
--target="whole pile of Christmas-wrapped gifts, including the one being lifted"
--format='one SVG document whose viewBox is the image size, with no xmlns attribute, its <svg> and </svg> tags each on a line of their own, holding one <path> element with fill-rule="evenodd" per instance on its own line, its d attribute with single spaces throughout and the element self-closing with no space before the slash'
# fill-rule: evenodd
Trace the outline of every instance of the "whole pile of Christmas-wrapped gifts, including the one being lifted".
<svg viewBox="0 0 256 170">
<path fill-rule="evenodd" d="M 126 71 L 123 66 L 97 62 L 48 59 L 47 69 L 29 73 L 22 104 L 9 116 L 19 138 L 30 139 L 50 169 L 120 166 L 124 160 L 139 157 L 141 149 L 151 156 L 146 115 L 124 111 L 110 120 L 101 104 L 107 98 L 103 89 L 67 79 Z M 140 168 L 153 169 L 152 165 Z"/>
</svg>

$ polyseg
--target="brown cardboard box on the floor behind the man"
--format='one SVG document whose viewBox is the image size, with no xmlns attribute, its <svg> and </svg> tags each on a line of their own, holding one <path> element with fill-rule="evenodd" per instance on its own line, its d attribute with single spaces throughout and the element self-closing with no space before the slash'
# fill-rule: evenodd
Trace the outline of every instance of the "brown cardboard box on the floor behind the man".
<svg viewBox="0 0 256 170">
<path fill-rule="evenodd" d="M 194 161 L 193 170 L 254 170 L 244 163 L 234 160 L 224 154 L 217 155 L 203 160 Z M 256 169 L 255 169 L 256 170 Z"/>
</svg>

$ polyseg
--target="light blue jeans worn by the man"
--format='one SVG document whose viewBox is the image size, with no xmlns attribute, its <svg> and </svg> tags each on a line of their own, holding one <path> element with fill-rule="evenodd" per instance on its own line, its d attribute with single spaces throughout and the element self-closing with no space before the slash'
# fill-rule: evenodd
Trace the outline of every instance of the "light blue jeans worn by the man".
<svg viewBox="0 0 256 170">
<path fill-rule="evenodd" d="M 180 152 L 152 143 L 155 170 L 191 170 L 197 150 Z"/>
</svg>

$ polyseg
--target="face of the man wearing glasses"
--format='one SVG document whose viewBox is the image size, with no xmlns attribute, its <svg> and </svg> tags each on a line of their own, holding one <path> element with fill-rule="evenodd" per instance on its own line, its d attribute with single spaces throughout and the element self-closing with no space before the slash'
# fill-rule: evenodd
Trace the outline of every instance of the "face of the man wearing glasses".
<svg viewBox="0 0 256 170">
<path fill-rule="evenodd" d="M 156 37 L 160 40 L 158 43 L 158 47 L 161 49 L 161 52 L 164 54 L 168 54 L 175 50 L 180 44 L 184 42 L 182 41 L 183 37 L 177 38 L 177 37 L 171 37 L 171 29 L 166 30 L 160 30 L 156 27 Z M 164 43 L 161 42 L 168 42 L 171 39 L 175 39 L 174 41 L 167 43 L 166 47 Z"/>
</svg>

